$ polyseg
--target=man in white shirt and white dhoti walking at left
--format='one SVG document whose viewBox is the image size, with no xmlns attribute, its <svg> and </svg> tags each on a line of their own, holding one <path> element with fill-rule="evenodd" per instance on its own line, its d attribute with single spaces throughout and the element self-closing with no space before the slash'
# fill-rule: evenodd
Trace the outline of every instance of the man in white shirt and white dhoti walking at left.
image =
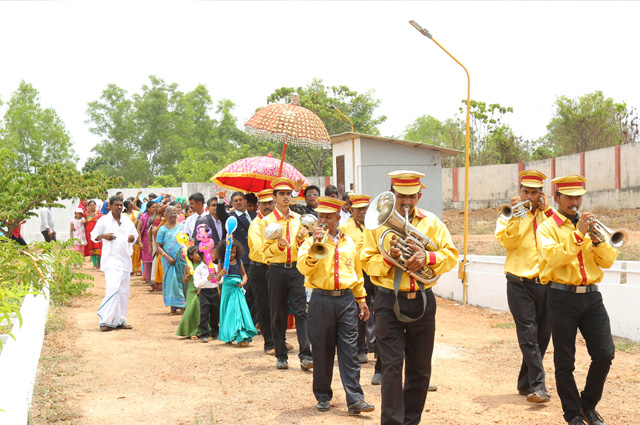
<svg viewBox="0 0 640 425">
<path fill-rule="evenodd" d="M 91 240 L 102 241 L 100 270 L 104 272 L 105 294 L 98 316 L 100 330 L 131 329 L 127 324 L 129 277 L 131 275 L 133 243 L 138 236 L 131 219 L 122 214 L 122 198 L 110 199 L 111 211 L 101 217 L 91 231 Z"/>
</svg>

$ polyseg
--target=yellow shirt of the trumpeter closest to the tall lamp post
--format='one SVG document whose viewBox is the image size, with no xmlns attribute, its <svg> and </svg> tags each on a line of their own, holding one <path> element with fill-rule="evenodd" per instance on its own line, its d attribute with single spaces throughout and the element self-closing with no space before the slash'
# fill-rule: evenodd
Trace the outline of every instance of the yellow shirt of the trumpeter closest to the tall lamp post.
<svg viewBox="0 0 640 425">
<path fill-rule="evenodd" d="M 528 212 L 521 220 L 498 218 L 496 239 L 507 249 L 504 272 L 516 276 L 533 279 L 538 277 L 538 249 L 536 248 L 536 231 L 543 221 L 553 214 L 553 208 L 546 211 L 539 208 L 535 214 Z"/>
</svg>

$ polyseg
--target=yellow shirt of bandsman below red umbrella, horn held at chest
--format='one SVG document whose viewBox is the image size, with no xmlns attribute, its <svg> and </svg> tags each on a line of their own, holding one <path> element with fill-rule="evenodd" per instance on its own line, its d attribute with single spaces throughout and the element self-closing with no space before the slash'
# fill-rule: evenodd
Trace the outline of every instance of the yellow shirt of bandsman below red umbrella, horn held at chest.
<svg viewBox="0 0 640 425">
<path fill-rule="evenodd" d="M 278 240 L 267 240 L 264 237 L 264 229 L 271 223 L 279 223 L 282 226 L 282 237 L 289 242 L 289 246 L 281 248 Z M 260 235 L 264 241 L 264 257 L 267 264 L 294 262 L 298 258 L 298 247 L 302 245 L 304 239 L 299 241 L 296 236 L 300 231 L 300 214 L 289 210 L 289 216 L 285 219 L 284 214 L 274 208 L 273 212 L 260 220 Z"/>
</svg>

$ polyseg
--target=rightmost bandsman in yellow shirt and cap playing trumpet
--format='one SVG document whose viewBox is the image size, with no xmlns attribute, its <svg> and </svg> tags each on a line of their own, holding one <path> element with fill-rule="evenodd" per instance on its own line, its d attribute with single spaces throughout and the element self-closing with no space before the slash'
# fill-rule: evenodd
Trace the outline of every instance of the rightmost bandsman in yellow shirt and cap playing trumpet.
<svg viewBox="0 0 640 425">
<path fill-rule="evenodd" d="M 595 408 L 615 354 L 609 315 L 598 291 L 603 268 L 613 265 L 618 250 L 590 234 L 595 218 L 578 213 L 586 179 L 579 175 L 554 179 L 558 211 L 538 229 L 540 280 L 549 286 L 549 317 L 553 331 L 556 387 L 564 419 L 571 425 L 606 425 Z M 576 333 L 584 337 L 591 356 L 584 390 L 573 376 Z"/>
</svg>

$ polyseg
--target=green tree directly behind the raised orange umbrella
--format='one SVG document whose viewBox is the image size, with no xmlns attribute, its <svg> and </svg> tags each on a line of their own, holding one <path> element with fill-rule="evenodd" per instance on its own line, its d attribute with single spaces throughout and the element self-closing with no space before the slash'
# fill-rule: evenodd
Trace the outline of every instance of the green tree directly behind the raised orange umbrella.
<svg viewBox="0 0 640 425">
<path fill-rule="evenodd" d="M 359 94 L 344 85 L 325 86 L 318 78 L 314 78 L 306 87 L 276 89 L 267 97 L 267 103 L 288 101 L 294 92 L 300 95 L 300 106 L 318 115 L 330 135 L 351 131 L 349 121 L 330 105 L 337 107 L 353 121 L 353 128 L 357 133 L 379 135 L 378 125 L 387 120 L 384 115 L 374 116 L 376 108 L 380 106 L 380 100 L 374 98 L 373 90 Z M 331 150 L 289 145 L 286 155 L 288 160 L 285 160 L 304 175 L 324 176 L 332 173 Z"/>
</svg>

